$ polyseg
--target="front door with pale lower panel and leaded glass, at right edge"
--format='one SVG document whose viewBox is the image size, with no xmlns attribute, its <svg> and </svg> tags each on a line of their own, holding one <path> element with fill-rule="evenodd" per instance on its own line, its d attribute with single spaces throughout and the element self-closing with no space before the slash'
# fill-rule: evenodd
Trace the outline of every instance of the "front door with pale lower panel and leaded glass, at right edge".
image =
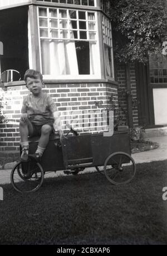
<svg viewBox="0 0 167 256">
<path fill-rule="evenodd" d="M 167 124 L 167 57 L 151 55 L 148 64 L 136 64 L 139 125 Z"/>
</svg>

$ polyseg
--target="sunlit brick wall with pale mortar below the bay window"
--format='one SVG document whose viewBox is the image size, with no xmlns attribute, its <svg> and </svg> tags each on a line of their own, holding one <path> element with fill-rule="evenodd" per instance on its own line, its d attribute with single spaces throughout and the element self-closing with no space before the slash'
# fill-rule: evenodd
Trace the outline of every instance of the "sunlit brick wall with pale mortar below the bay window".
<svg viewBox="0 0 167 256">
<path fill-rule="evenodd" d="M 63 130 L 66 130 L 68 121 L 80 133 L 106 131 L 102 110 L 109 104 L 111 94 L 117 104 L 117 86 L 110 83 L 45 83 L 43 91 L 49 93 L 56 102 Z M 0 150 L 19 150 L 18 122 L 22 101 L 28 91 L 26 86 L 21 85 L 8 87 L 7 91 L 0 88 L 0 93 L 6 103 L 3 111 L 8 120 L 7 124 L 0 124 Z M 102 106 L 97 108 L 95 101 L 102 101 Z"/>
</svg>

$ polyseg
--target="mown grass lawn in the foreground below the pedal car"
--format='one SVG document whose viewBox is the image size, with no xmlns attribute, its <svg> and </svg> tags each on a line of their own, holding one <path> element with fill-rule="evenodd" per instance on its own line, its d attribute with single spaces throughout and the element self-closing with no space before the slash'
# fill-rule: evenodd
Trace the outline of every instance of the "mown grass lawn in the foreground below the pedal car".
<svg viewBox="0 0 167 256">
<path fill-rule="evenodd" d="M 99 173 L 48 178 L 28 195 L 3 185 L 0 244 L 167 244 L 166 167 L 138 164 L 120 187 Z"/>
</svg>

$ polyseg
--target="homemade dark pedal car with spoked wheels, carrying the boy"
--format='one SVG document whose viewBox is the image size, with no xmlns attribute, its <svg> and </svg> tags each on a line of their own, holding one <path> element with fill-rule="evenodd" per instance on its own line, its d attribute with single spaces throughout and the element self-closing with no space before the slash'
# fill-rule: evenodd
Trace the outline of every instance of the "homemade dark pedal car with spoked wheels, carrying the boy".
<svg viewBox="0 0 167 256">
<path fill-rule="evenodd" d="M 16 163 L 11 172 L 11 183 L 18 192 L 37 191 L 44 174 L 58 170 L 77 174 L 87 167 L 95 167 L 114 185 L 126 184 L 134 178 L 136 165 L 130 155 L 128 130 L 116 131 L 112 136 L 103 133 L 77 136 L 75 130 L 71 128 L 70 131 L 75 136 L 67 134 L 67 139 L 62 139 L 61 143 L 58 135 L 50 136 L 40 163 L 31 156 L 27 162 L 19 160 Z M 35 153 L 38 140 L 37 137 L 29 139 L 30 154 Z"/>
</svg>

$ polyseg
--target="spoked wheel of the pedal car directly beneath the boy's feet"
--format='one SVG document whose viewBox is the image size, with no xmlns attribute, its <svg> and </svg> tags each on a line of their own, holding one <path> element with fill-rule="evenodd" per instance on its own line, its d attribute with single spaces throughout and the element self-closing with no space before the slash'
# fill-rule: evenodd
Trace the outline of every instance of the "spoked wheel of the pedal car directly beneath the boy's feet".
<svg viewBox="0 0 167 256">
<path fill-rule="evenodd" d="M 34 159 L 19 161 L 12 169 L 11 183 L 21 193 L 35 192 L 43 182 L 44 172 Z"/>
</svg>

